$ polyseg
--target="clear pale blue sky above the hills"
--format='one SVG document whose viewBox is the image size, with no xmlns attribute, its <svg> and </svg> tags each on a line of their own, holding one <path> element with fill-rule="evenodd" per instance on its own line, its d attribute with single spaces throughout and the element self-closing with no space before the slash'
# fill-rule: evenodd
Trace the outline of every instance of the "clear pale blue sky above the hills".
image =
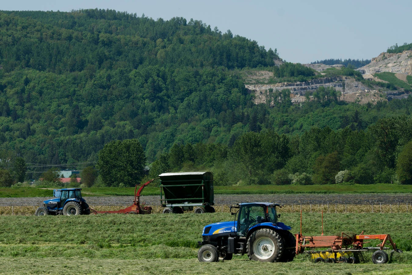
<svg viewBox="0 0 412 275">
<path fill-rule="evenodd" d="M 115 9 L 157 20 L 201 20 L 277 49 L 288 62 L 371 59 L 412 43 L 411 0 L 7 0 L 1 10 Z"/>
</svg>

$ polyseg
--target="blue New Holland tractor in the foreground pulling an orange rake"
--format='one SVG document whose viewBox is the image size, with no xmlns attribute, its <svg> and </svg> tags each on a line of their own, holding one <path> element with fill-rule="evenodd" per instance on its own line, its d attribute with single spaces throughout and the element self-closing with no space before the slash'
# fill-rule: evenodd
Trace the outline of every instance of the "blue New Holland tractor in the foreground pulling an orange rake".
<svg viewBox="0 0 412 275">
<path fill-rule="evenodd" d="M 295 257 L 296 239 L 290 226 L 278 221 L 279 204 L 243 202 L 232 215 L 235 221 L 212 223 L 203 228 L 197 258 L 201 262 L 231 260 L 233 254 L 248 254 L 250 260 L 287 262 Z"/>
</svg>

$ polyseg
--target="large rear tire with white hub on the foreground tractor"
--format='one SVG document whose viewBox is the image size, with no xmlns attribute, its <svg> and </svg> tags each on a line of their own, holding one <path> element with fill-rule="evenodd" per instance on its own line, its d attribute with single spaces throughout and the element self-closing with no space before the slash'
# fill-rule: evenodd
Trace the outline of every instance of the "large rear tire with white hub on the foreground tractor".
<svg viewBox="0 0 412 275">
<path fill-rule="evenodd" d="M 268 228 L 253 232 L 247 243 L 249 259 L 260 262 L 279 262 L 284 247 L 285 244 L 281 235 Z"/>
</svg>

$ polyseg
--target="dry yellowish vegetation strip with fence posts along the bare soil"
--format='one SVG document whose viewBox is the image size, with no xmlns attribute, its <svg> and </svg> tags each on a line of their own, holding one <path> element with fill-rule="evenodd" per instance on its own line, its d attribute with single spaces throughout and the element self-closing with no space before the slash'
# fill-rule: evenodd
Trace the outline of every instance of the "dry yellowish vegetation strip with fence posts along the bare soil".
<svg viewBox="0 0 412 275">
<path fill-rule="evenodd" d="M 310 213 L 410 213 L 411 202 L 407 203 L 384 203 L 375 202 L 370 204 L 339 204 L 334 203 L 331 206 L 329 202 L 326 204 L 302 204 L 291 203 L 283 204 L 279 209 L 279 213 L 291 213 L 291 212 L 310 212 Z M 162 213 L 163 207 L 161 204 L 146 204 L 153 208 L 153 213 Z M 333 204 L 332 204 L 333 205 Z M 100 204 L 91 205 L 92 208 L 98 211 L 119 210 L 128 207 L 129 205 L 113 205 L 113 204 Z M 214 208 L 216 212 L 229 212 L 230 204 L 215 204 Z M 195 207 L 194 207 L 195 208 Z M 0 206 L 0 215 L 33 215 L 37 206 Z"/>
</svg>

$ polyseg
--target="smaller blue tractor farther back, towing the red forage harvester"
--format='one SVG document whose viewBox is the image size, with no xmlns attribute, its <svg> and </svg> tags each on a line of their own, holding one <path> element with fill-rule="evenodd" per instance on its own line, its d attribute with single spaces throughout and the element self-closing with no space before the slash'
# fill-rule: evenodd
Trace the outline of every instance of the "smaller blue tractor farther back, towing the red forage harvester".
<svg viewBox="0 0 412 275">
<path fill-rule="evenodd" d="M 37 208 L 35 215 L 88 215 L 89 205 L 82 198 L 81 188 L 54 189 L 54 199 L 45 200 L 43 206 Z"/>
</svg>

